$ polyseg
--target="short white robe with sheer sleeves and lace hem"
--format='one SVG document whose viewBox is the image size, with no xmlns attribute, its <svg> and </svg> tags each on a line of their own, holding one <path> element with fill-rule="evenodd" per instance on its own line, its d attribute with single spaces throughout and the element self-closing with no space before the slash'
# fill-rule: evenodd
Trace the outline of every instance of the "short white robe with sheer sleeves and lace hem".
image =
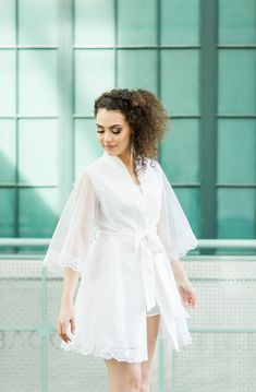
<svg viewBox="0 0 256 392">
<path fill-rule="evenodd" d="M 170 263 L 198 246 L 160 164 L 138 187 L 107 152 L 87 165 L 64 205 L 42 264 L 80 272 L 75 333 L 61 348 L 129 363 L 148 359 L 147 311 L 157 304 L 168 348 L 192 343 Z M 142 192 L 143 191 L 143 192 Z"/>
</svg>

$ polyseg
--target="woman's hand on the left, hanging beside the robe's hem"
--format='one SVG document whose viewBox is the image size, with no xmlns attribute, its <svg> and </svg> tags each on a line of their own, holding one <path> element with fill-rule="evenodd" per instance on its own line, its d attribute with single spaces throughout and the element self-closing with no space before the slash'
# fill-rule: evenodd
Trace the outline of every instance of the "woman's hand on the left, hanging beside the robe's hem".
<svg viewBox="0 0 256 392">
<path fill-rule="evenodd" d="M 57 331 L 59 336 L 65 342 L 71 342 L 70 336 L 68 335 L 68 326 L 71 324 L 71 332 L 75 332 L 75 317 L 74 317 L 74 306 L 71 300 L 62 300 L 60 313 L 58 318 Z"/>
</svg>

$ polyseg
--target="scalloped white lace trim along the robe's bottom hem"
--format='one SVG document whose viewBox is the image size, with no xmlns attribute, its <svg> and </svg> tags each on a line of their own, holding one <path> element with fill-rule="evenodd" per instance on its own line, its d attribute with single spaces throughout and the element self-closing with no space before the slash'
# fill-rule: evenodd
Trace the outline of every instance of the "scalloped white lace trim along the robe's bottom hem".
<svg viewBox="0 0 256 392">
<path fill-rule="evenodd" d="M 74 338 L 74 337 L 73 337 Z M 106 348 L 99 349 L 96 346 L 86 346 L 77 342 L 71 341 L 69 343 L 61 342 L 60 348 L 64 351 L 73 351 L 83 355 L 95 355 L 106 359 L 117 359 L 126 363 L 142 363 L 148 359 L 146 349 L 138 348 Z"/>
</svg>

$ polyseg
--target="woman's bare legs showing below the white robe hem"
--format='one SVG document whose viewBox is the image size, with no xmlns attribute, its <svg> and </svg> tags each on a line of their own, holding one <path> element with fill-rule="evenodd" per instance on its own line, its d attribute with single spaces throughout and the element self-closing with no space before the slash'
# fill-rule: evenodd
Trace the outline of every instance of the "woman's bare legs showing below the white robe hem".
<svg viewBox="0 0 256 392">
<path fill-rule="evenodd" d="M 160 314 L 147 317 L 148 360 L 130 364 L 117 359 L 105 359 L 110 392 L 148 392 L 150 365 L 156 346 Z"/>
</svg>

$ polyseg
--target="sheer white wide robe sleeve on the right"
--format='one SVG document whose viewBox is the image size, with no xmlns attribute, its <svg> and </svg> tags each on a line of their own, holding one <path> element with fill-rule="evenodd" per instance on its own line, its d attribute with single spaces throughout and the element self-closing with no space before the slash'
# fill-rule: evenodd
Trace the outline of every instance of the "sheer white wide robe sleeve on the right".
<svg viewBox="0 0 256 392">
<path fill-rule="evenodd" d="M 198 246 L 185 213 L 160 164 L 158 173 L 162 185 L 161 207 L 157 231 L 169 257 L 169 261 L 179 260 L 188 250 Z"/>
</svg>

